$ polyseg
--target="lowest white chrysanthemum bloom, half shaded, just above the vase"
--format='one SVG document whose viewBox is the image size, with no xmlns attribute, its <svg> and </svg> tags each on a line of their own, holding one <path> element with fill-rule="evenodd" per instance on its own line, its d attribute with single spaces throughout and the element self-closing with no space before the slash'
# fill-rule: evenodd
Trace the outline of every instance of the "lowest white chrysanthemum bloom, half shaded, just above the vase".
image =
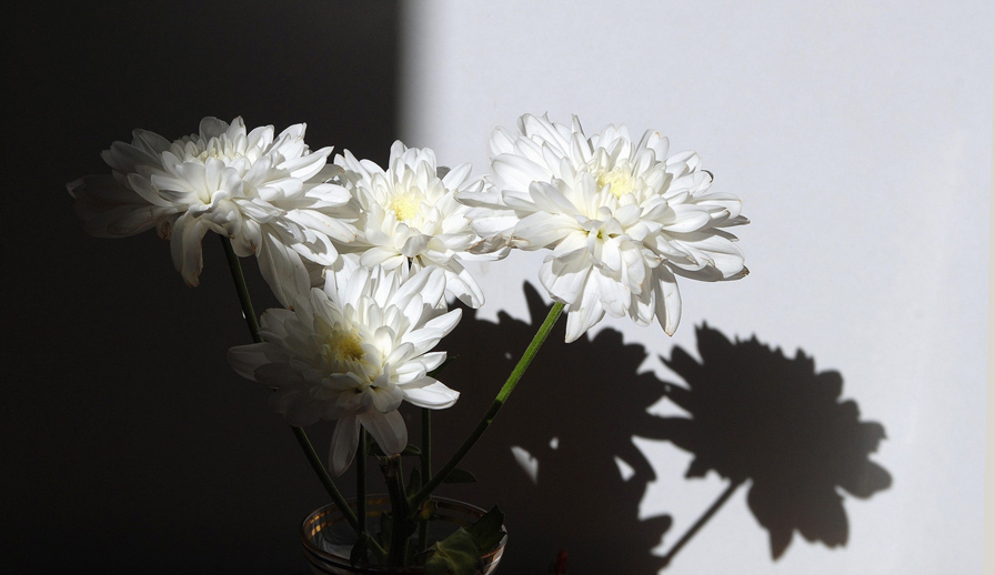
<svg viewBox="0 0 995 575">
<path fill-rule="evenodd" d="M 385 453 L 400 453 L 408 428 L 398 407 L 408 401 L 441 410 L 459 393 L 428 375 L 445 360 L 431 352 L 460 321 L 445 311 L 445 280 L 426 269 L 402 281 L 398 271 L 359 266 L 343 256 L 324 290 L 300 296 L 291 310 L 268 310 L 264 343 L 232 347 L 241 375 L 274 387 L 270 404 L 294 426 L 338 420 L 329 466 L 341 475 L 352 462 L 360 425 Z"/>
</svg>

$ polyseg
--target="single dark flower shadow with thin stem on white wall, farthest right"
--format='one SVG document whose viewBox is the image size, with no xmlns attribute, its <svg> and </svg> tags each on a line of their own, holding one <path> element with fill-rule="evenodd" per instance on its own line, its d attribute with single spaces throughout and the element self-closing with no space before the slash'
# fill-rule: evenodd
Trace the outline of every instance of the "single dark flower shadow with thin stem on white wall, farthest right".
<svg viewBox="0 0 995 575">
<path fill-rule="evenodd" d="M 841 400 L 842 375 L 816 372 L 801 350 L 790 359 L 755 336 L 731 342 L 707 325 L 697 329 L 697 347 L 701 363 L 681 347 L 663 359 L 686 383 L 666 384 L 665 394 L 690 417 L 662 417 L 659 438 L 694 455 L 686 477 L 715 471 L 730 486 L 665 559 L 747 480 L 750 511 L 770 533 L 774 559 L 795 531 L 810 542 L 845 545 L 837 487 L 867 498 L 891 486 L 891 474 L 867 458 L 884 427 L 860 421 L 857 404 Z"/>
</svg>

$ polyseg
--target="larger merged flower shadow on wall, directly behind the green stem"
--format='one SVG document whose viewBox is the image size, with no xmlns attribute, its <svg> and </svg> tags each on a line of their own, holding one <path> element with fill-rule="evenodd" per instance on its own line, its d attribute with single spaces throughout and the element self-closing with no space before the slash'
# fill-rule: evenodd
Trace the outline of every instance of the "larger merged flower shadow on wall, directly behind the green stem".
<svg viewBox="0 0 995 575">
<path fill-rule="evenodd" d="M 524 290 L 532 323 L 541 322 L 550 306 L 531 284 Z M 495 324 L 464 310 L 442 344 L 453 361 L 441 377 L 463 395 L 460 408 L 432 414 L 438 453 L 456 447 L 461 430 L 473 425 L 488 406 L 488 392 L 501 384 L 494 374 L 511 371 L 533 332 L 503 312 Z M 639 373 L 646 350 L 623 343 L 616 331 L 570 344 L 564 335 L 560 322 L 481 440 L 486 445 L 461 465 L 486 481 L 446 487 L 452 496 L 494 501 L 506 512 L 502 571 L 546 573 L 565 551 L 569 572 L 577 575 L 656 573 L 663 559 L 650 551 L 672 519 L 640 518 L 640 502 L 655 474 L 632 436 L 662 435 L 666 422 L 646 408 L 663 396 L 665 384 Z"/>
</svg>

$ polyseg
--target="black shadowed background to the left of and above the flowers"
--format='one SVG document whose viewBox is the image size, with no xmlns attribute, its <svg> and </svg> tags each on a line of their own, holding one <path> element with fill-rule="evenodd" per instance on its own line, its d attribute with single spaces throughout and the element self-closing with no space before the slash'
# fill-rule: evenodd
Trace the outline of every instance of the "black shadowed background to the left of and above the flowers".
<svg viewBox="0 0 995 575">
<path fill-rule="evenodd" d="M 135 128 L 173 140 L 205 115 L 306 121 L 312 149 L 384 161 L 396 4 L 19 2 L 4 20 L 0 557 L 17 573 L 303 573 L 297 527 L 328 496 L 265 390 L 224 361 L 249 335 L 219 241 L 187 288 L 153 232 L 86 235 L 66 183 L 107 173 L 100 152 Z M 311 434 L 326 453 L 331 426 Z"/>
</svg>

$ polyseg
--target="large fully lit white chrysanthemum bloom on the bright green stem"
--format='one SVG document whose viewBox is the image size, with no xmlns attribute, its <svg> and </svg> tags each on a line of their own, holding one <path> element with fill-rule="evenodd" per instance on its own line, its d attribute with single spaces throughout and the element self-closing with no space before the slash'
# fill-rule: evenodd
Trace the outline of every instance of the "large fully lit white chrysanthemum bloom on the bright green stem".
<svg viewBox="0 0 995 575">
<path fill-rule="evenodd" d="M 710 193 L 712 174 L 693 152 L 667 157 L 667 140 L 625 125 L 587 138 L 546 117 L 523 115 L 520 133 L 491 137 L 493 190 L 461 193 L 474 230 L 523 250 L 552 250 L 540 281 L 567 304 L 566 341 L 607 313 L 667 334 L 681 319 L 675 275 L 735 280 L 742 252 L 725 228 L 747 223 L 740 200 Z"/>
</svg>

